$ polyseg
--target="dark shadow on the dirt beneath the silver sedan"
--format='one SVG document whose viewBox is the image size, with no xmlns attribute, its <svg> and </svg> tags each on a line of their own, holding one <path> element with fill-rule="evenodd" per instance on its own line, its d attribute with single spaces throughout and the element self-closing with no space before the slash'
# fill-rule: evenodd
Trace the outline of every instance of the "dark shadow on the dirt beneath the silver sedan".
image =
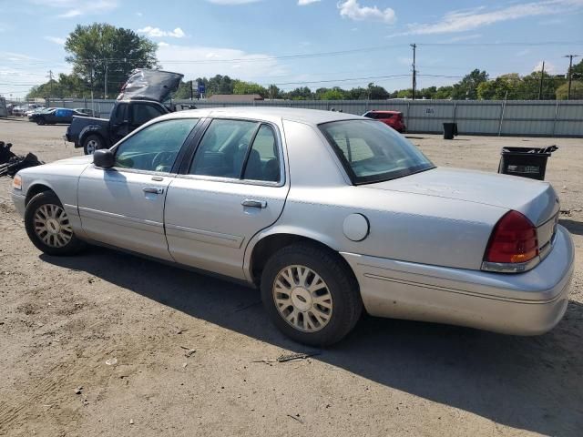
<svg viewBox="0 0 583 437">
<path fill-rule="evenodd" d="M 306 351 L 271 326 L 256 290 L 109 249 L 41 259 L 252 338 Z M 583 305 L 575 301 L 555 330 L 530 338 L 363 317 L 349 338 L 314 360 L 517 429 L 580 436 L 582 321 Z"/>
</svg>

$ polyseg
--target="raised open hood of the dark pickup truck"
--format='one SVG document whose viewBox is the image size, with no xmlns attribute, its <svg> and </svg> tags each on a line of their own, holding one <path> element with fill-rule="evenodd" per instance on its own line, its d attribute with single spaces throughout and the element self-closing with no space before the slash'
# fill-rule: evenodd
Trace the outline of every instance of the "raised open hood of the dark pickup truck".
<svg viewBox="0 0 583 437">
<path fill-rule="evenodd" d="M 164 102 L 170 93 L 179 89 L 180 80 L 184 75 L 161 70 L 138 68 L 129 76 L 122 86 L 118 100 L 144 99 Z"/>
</svg>

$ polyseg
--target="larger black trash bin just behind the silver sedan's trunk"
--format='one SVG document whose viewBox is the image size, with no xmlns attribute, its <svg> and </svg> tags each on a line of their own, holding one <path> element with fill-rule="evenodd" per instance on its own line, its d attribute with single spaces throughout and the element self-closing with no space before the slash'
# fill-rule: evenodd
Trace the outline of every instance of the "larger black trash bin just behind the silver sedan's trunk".
<svg viewBox="0 0 583 437">
<path fill-rule="evenodd" d="M 498 173 L 545 180 L 547 159 L 557 148 L 557 146 L 544 148 L 504 147 L 500 152 Z"/>
</svg>

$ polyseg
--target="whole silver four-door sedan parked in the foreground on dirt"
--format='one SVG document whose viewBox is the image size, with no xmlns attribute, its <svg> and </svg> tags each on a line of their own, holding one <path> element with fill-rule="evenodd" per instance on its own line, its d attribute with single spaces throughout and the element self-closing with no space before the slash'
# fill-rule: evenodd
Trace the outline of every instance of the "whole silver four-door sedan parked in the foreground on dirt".
<svg viewBox="0 0 583 437">
<path fill-rule="evenodd" d="M 366 117 L 173 113 L 93 157 L 21 170 L 12 198 L 46 254 L 96 242 L 242 280 L 312 345 L 363 309 L 536 335 L 568 305 L 573 242 L 550 184 L 436 168 Z"/>
</svg>

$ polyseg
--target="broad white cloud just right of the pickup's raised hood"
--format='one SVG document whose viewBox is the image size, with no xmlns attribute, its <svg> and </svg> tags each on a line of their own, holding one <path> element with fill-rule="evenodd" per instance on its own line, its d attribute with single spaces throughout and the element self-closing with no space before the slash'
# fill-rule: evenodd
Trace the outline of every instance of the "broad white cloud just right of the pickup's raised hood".
<svg viewBox="0 0 583 437">
<path fill-rule="evenodd" d="M 170 44 L 159 45 L 157 55 L 164 69 L 183 73 L 185 80 L 228 75 L 241 80 L 269 83 L 275 80 L 274 77 L 287 73 L 277 59 L 269 55 L 251 54 L 236 48 Z M 185 60 L 199 62 L 187 63 Z"/>
</svg>

